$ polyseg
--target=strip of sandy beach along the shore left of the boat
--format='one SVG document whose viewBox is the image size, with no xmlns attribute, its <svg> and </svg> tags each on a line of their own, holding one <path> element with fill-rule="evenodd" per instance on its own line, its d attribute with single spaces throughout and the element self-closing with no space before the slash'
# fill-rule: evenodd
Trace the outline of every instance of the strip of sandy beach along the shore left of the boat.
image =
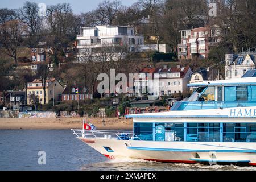
<svg viewBox="0 0 256 182">
<path fill-rule="evenodd" d="M 82 129 L 83 118 L 0 118 L 0 129 Z M 85 118 L 97 130 L 133 130 L 133 121 L 125 118 Z M 105 120 L 105 125 L 102 121 Z"/>
</svg>

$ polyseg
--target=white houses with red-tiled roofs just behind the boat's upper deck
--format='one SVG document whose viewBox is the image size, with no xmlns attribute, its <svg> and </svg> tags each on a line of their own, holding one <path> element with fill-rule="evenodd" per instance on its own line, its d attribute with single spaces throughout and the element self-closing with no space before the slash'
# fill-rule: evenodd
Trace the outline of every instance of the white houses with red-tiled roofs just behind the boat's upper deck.
<svg viewBox="0 0 256 182">
<path fill-rule="evenodd" d="M 151 75 L 149 75 L 149 73 Z M 152 96 L 170 96 L 175 93 L 187 93 L 187 84 L 191 80 L 192 70 L 189 67 L 178 65 L 173 68 L 146 68 L 139 73 L 139 79 L 134 80 L 135 95 L 142 96 L 147 93 L 145 89 L 149 86 L 154 87 L 155 93 Z M 149 81 L 153 79 L 152 85 Z"/>
</svg>

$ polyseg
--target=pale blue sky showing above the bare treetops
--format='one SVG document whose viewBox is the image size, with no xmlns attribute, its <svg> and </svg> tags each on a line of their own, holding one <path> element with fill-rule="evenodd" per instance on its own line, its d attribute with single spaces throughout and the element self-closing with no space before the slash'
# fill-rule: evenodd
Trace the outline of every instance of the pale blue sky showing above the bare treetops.
<svg viewBox="0 0 256 182">
<path fill-rule="evenodd" d="M 0 8 L 18 9 L 28 0 L 1 0 Z M 46 5 L 55 5 L 57 3 L 70 3 L 75 14 L 84 13 L 96 9 L 98 3 L 102 0 L 34 0 L 31 2 L 45 3 Z M 111 1 L 111 0 L 110 0 Z M 130 6 L 137 0 L 121 0 L 122 5 Z"/>
</svg>

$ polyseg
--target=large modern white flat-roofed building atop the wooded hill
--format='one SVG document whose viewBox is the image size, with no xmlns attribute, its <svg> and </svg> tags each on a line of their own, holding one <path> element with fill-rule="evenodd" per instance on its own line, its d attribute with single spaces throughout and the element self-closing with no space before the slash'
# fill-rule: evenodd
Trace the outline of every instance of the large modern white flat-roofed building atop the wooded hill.
<svg viewBox="0 0 256 182">
<path fill-rule="evenodd" d="M 79 61 L 82 61 L 83 55 L 90 53 L 97 55 L 102 47 L 110 46 L 128 46 L 130 51 L 137 45 L 144 44 L 144 37 L 137 35 L 135 27 L 130 26 L 96 26 L 81 27 L 80 35 L 77 35 Z M 119 53 L 117 49 L 117 53 Z"/>
</svg>

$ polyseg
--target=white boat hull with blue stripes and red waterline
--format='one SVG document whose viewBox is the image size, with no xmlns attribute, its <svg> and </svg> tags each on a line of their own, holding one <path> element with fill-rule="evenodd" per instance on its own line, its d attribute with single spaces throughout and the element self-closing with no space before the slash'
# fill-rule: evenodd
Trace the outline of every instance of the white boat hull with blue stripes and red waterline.
<svg viewBox="0 0 256 182">
<path fill-rule="evenodd" d="M 170 163 L 242 163 L 256 165 L 256 143 L 152 142 L 78 138 L 109 159 L 128 157 Z"/>
</svg>

